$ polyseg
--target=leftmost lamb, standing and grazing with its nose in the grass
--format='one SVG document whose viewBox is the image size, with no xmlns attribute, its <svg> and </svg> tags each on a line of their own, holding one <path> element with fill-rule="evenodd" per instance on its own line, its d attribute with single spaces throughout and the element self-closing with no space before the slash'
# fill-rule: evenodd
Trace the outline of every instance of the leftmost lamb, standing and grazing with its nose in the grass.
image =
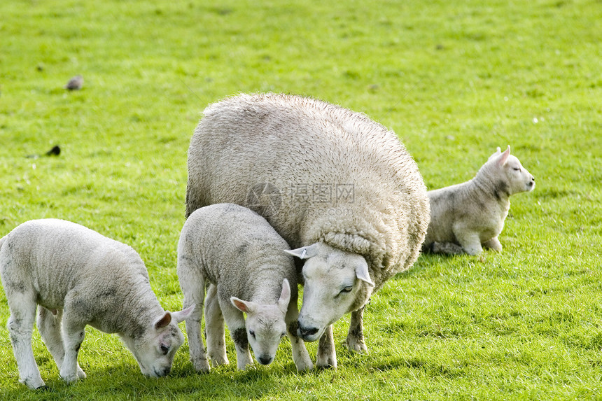
<svg viewBox="0 0 602 401">
<path fill-rule="evenodd" d="M 31 220 L 0 239 L 0 276 L 19 381 L 44 386 L 31 348 L 37 325 L 67 383 L 85 377 L 77 363 L 85 325 L 117 333 L 146 377 L 169 373 L 184 341 L 177 323 L 191 309 L 166 312 L 139 255 L 125 244 L 64 220 Z"/>
</svg>

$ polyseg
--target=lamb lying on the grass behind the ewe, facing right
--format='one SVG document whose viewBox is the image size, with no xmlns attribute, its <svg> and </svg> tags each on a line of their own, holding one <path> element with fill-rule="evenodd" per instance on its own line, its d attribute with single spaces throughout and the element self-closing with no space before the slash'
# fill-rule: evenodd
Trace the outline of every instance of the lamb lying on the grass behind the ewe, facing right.
<svg viewBox="0 0 602 401">
<path fill-rule="evenodd" d="M 430 224 L 423 244 L 434 253 L 477 255 L 482 247 L 502 251 L 498 235 L 510 209 L 510 195 L 535 188 L 535 178 L 500 148 L 465 183 L 428 191 Z"/>
</svg>

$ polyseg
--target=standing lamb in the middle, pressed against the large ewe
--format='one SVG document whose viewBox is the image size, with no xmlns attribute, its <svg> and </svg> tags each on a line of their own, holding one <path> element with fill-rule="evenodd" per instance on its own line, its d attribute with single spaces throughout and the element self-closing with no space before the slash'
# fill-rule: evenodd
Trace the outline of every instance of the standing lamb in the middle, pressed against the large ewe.
<svg viewBox="0 0 602 401">
<path fill-rule="evenodd" d="M 192 213 L 178 244 L 178 277 L 184 306 L 194 306 L 186 321 L 190 360 L 197 371 L 209 363 L 228 363 L 224 319 L 235 342 L 237 367 L 253 359 L 272 363 L 280 340 L 288 333 L 297 370 L 313 365 L 297 337 L 297 272 L 288 244 L 257 213 L 235 204 L 214 204 Z M 205 353 L 200 327 L 205 302 Z M 243 312 L 246 314 L 246 323 Z"/>
</svg>

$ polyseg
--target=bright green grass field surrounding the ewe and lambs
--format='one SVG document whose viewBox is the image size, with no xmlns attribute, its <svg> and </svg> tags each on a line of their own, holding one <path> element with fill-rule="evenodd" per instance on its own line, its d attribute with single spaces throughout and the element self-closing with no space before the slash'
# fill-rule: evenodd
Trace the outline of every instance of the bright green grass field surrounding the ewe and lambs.
<svg viewBox="0 0 602 401">
<path fill-rule="evenodd" d="M 508 144 L 537 183 L 512 198 L 503 253 L 422 255 L 372 297 L 369 353 L 346 351 L 339 321 L 336 371 L 297 374 L 285 340 L 272 365 L 239 372 L 229 341 L 229 366 L 196 374 L 185 344 L 169 377 L 146 379 L 88 328 L 88 377 L 67 386 L 36 330 L 50 390 L 29 391 L 0 291 L 3 400 L 602 399 L 600 1 L 13 0 L 0 15 L 0 235 L 64 218 L 130 244 L 166 309 L 182 302 L 188 141 L 230 94 L 362 111 L 428 188 Z M 66 92 L 77 73 L 83 89 Z"/>
</svg>

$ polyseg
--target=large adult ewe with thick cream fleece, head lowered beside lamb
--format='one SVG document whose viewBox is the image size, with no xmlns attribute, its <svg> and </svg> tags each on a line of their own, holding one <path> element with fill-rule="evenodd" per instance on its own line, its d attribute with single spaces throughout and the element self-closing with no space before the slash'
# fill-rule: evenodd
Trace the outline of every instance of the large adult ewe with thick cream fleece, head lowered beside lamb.
<svg viewBox="0 0 602 401">
<path fill-rule="evenodd" d="M 240 94 L 205 109 L 188 150 L 186 216 L 221 202 L 257 211 L 306 259 L 298 332 L 321 338 L 318 367 L 336 367 L 331 325 L 346 313 L 347 346 L 365 351 L 363 307 L 412 266 L 429 220 L 426 187 L 393 132 L 285 94 Z"/>
</svg>

